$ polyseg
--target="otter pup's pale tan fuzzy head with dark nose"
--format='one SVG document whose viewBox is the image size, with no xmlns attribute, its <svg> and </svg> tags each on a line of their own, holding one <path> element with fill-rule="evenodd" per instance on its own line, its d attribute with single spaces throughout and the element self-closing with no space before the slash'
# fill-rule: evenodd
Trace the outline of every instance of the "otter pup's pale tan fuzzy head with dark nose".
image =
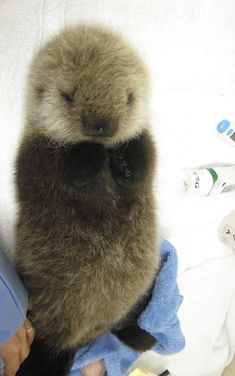
<svg viewBox="0 0 235 376">
<path fill-rule="evenodd" d="M 120 36 L 95 26 L 72 27 L 35 56 L 27 117 L 52 140 L 110 146 L 146 127 L 147 94 L 145 66 Z"/>
</svg>

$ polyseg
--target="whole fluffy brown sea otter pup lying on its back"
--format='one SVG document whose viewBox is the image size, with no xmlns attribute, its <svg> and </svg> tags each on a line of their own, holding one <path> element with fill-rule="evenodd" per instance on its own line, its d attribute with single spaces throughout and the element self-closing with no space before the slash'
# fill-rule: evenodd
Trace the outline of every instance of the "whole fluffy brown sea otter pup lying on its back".
<svg viewBox="0 0 235 376">
<path fill-rule="evenodd" d="M 36 339 L 18 375 L 67 375 L 75 351 L 113 331 L 138 351 L 158 270 L 148 74 L 101 26 L 52 38 L 30 67 L 16 160 L 16 265 Z"/>
</svg>

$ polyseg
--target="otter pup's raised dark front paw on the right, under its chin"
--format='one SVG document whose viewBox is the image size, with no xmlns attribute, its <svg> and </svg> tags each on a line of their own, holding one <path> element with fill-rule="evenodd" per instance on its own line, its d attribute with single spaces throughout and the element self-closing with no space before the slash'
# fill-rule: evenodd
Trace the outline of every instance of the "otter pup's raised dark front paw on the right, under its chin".
<svg viewBox="0 0 235 376">
<path fill-rule="evenodd" d="M 110 149 L 110 166 L 114 180 L 125 186 L 136 186 L 148 174 L 148 156 L 142 136 Z"/>
</svg>

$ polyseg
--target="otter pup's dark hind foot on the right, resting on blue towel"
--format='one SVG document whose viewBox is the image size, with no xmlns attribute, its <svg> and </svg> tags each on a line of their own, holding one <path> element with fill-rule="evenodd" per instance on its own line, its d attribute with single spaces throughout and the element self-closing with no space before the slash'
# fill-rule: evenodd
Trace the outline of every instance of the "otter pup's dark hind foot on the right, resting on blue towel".
<svg viewBox="0 0 235 376">
<path fill-rule="evenodd" d="M 156 339 L 137 324 L 113 331 L 113 334 L 124 342 L 125 345 L 139 352 L 150 350 L 156 343 Z"/>
</svg>

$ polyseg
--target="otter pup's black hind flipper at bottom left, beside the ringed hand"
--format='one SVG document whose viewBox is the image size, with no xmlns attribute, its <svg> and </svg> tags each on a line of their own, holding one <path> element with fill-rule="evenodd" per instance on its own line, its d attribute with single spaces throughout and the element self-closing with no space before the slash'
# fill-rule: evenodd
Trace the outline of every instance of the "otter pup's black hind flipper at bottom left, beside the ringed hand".
<svg viewBox="0 0 235 376">
<path fill-rule="evenodd" d="M 40 339 L 35 339 L 28 358 L 21 364 L 16 376 L 67 376 L 75 351 L 52 352 Z"/>
</svg>

